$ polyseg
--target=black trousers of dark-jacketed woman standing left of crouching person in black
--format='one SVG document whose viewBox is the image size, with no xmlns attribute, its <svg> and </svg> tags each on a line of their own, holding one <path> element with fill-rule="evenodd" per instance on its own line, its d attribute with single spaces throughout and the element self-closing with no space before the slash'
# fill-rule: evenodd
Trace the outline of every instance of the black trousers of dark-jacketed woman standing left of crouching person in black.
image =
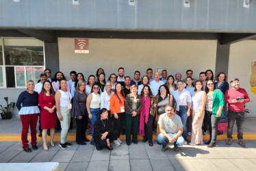
<svg viewBox="0 0 256 171">
<path fill-rule="evenodd" d="M 75 119 L 77 123 L 77 132 L 75 135 L 75 142 L 81 143 L 84 141 L 84 136 L 86 135 L 86 117 L 83 116 L 81 119 Z"/>
</svg>

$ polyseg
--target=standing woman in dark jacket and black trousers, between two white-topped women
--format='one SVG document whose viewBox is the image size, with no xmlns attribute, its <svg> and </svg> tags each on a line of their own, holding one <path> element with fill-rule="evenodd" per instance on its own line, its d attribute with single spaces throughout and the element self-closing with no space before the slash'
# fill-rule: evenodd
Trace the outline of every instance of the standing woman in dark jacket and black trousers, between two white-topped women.
<svg viewBox="0 0 256 171">
<path fill-rule="evenodd" d="M 80 80 L 77 83 L 77 88 L 75 91 L 75 95 L 73 97 L 73 112 L 72 116 L 75 118 L 77 123 L 77 131 L 75 141 L 77 144 L 86 145 L 86 122 L 87 122 L 87 114 L 86 114 L 86 82 L 84 80 Z"/>
</svg>

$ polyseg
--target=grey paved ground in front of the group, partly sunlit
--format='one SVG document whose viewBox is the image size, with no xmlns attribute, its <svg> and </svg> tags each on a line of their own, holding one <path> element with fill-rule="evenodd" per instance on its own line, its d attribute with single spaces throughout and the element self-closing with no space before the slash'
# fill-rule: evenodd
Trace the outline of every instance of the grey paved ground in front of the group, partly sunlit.
<svg viewBox="0 0 256 171">
<path fill-rule="evenodd" d="M 226 146 L 218 141 L 215 148 L 201 146 L 182 146 L 179 152 L 148 143 L 114 146 L 114 150 L 97 151 L 94 146 L 73 146 L 62 150 L 55 146 L 48 151 L 42 149 L 25 153 L 21 142 L 0 142 L 0 162 L 49 162 L 60 163 L 60 170 L 256 170 L 256 140 L 247 140 L 246 148 L 233 142 Z M 4 170 L 1 168 L 1 170 Z"/>
</svg>

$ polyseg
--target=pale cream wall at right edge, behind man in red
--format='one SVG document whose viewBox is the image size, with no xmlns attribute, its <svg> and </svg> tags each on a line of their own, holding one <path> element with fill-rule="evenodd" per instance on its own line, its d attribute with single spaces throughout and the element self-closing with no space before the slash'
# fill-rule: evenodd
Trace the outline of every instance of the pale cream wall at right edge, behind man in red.
<svg viewBox="0 0 256 171">
<path fill-rule="evenodd" d="M 245 88 L 251 98 L 251 103 L 246 104 L 246 108 L 251 109 L 252 114 L 248 116 L 255 116 L 256 111 L 256 96 L 251 92 L 250 77 L 251 77 L 251 62 L 256 60 L 256 41 L 244 40 L 231 44 L 229 53 L 229 78 L 240 80 L 240 87 Z"/>
</svg>

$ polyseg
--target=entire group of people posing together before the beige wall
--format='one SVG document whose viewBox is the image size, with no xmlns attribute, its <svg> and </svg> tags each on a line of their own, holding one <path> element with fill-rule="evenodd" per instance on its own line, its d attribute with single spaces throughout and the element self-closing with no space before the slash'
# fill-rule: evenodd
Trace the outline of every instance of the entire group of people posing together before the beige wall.
<svg viewBox="0 0 256 171">
<path fill-rule="evenodd" d="M 199 80 L 192 77 L 192 70 L 186 71 L 185 79 L 181 79 L 181 73 L 175 77 L 167 75 L 167 70 L 162 70 L 153 77 L 153 70 L 149 68 L 141 79 L 138 70 L 131 79 L 125 77 L 125 69 L 120 67 L 118 75 L 113 73 L 107 79 L 103 68 L 99 68 L 96 77 L 90 75 L 87 81 L 82 73 L 75 71 L 71 71 L 71 79 L 66 81 L 62 72 L 51 78 L 51 70 L 45 69 L 38 83 L 27 82 L 27 90 L 21 92 L 16 103 L 23 126 L 23 149 L 31 152 L 27 140 L 29 126 L 32 148 L 37 149 L 38 114 L 44 150 L 48 150 L 47 130 L 50 145 L 55 146 L 56 127 L 62 129 L 59 146 L 63 149 L 72 146 L 66 139 L 73 119 L 77 124 L 77 144 L 86 145 L 89 141 L 86 130 L 92 127 L 90 144 L 97 150 L 112 150 L 112 142 L 120 146 L 120 133 L 125 133 L 128 146 L 131 142 L 138 143 L 138 134 L 144 137 L 142 142 L 149 141 L 149 146 L 153 146 L 154 129 L 157 144 L 162 145 L 163 151 L 169 143 L 175 151 L 189 142 L 190 145 L 203 144 L 207 130 L 210 138 L 205 144 L 208 147 L 216 146 L 217 135 L 226 130 L 227 145 L 231 145 L 235 120 L 238 144 L 245 146 L 244 103 L 250 98 L 246 90 L 240 88 L 239 79 L 231 79 L 229 89 L 225 73 L 218 73 L 214 79 L 212 70 L 201 72 Z"/>
</svg>

